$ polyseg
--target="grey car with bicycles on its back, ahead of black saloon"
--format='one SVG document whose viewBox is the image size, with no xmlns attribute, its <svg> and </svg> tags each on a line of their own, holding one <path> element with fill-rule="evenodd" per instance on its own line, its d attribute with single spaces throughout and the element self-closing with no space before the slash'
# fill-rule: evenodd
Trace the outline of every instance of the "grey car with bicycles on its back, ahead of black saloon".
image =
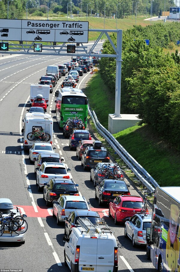
<svg viewBox="0 0 180 272">
<path fill-rule="evenodd" d="M 119 169 L 119 173 L 121 173 L 121 169 L 117 163 L 97 163 L 95 166 L 91 167 L 91 171 L 90 171 L 90 181 L 94 182 L 95 187 L 96 187 L 96 184 L 99 184 L 103 179 L 98 175 L 98 171 L 100 168 L 102 168 L 103 164 L 107 164 L 107 165 L 110 164 L 110 166 L 112 166 L 112 167 L 117 166 Z M 124 176 L 124 171 L 123 171 L 121 180 L 123 180 L 124 178 L 125 178 L 125 176 Z M 113 176 L 109 176 L 108 179 L 113 179 Z"/>
</svg>

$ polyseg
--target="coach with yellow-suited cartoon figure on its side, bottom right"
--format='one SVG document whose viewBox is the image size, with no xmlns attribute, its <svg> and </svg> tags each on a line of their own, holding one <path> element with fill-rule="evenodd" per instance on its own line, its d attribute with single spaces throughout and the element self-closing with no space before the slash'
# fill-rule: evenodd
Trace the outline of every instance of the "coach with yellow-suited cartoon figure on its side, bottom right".
<svg viewBox="0 0 180 272">
<path fill-rule="evenodd" d="M 147 258 L 160 272 L 180 272 L 180 187 L 157 187 L 152 226 L 147 228 Z"/>
</svg>

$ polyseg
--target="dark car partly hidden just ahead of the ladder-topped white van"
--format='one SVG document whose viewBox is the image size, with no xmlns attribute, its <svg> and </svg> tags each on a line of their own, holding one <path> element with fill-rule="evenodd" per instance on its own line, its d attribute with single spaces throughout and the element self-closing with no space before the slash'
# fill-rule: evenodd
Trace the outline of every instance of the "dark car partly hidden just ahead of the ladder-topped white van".
<svg viewBox="0 0 180 272">
<path fill-rule="evenodd" d="M 69 217 L 65 217 L 65 226 L 64 226 L 64 235 L 68 235 L 70 230 L 74 227 L 78 227 L 77 220 L 79 218 L 87 218 L 93 225 L 96 223 L 101 222 L 101 218 L 99 214 L 95 211 L 87 211 L 87 210 L 75 210 L 74 212 L 70 213 Z"/>
</svg>

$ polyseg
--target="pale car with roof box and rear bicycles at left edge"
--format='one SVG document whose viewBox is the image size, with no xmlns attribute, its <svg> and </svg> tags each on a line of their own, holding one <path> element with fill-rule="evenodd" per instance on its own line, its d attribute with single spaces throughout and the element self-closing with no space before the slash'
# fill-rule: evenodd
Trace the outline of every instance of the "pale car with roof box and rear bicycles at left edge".
<svg viewBox="0 0 180 272">
<path fill-rule="evenodd" d="M 15 213 L 13 217 L 16 216 L 22 216 L 22 217 L 27 217 L 25 214 L 21 214 L 18 207 L 13 206 L 12 201 L 9 198 L 0 198 L 0 213 L 2 212 L 3 217 L 8 217 L 10 212 Z M 6 221 L 4 220 L 4 223 Z M 21 231 L 21 229 L 25 228 L 25 223 L 18 229 L 18 232 Z M 26 223 L 26 229 L 27 229 L 27 223 Z M 0 236 L 0 242 L 18 242 L 19 244 L 24 244 L 25 243 L 25 237 L 26 237 L 26 232 L 25 233 L 16 233 L 16 232 L 11 232 L 8 229 L 8 226 L 5 225 L 4 227 L 4 232 Z"/>
</svg>

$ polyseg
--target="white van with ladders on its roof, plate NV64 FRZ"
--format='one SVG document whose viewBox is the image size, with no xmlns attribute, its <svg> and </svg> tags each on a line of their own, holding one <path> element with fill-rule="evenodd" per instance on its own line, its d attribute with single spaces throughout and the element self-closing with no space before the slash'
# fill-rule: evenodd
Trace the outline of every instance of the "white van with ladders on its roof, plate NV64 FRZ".
<svg viewBox="0 0 180 272">
<path fill-rule="evenodd" d="M 118 247 L 112 231 L 102 221 L 93 225 L 90 220 L 78 219 L 81 227 L 72 228 L 63 237 L 64 264 L 71 271 L 118 271 Z"/>
</svg>

